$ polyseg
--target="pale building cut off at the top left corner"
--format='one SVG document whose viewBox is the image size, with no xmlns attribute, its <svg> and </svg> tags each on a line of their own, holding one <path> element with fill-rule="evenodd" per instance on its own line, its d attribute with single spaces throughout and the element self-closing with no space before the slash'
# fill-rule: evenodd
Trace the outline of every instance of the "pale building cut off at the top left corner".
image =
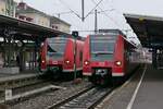
<svg viewBox="0 0 163 109">
<path fill-rule="evenodd" d="M 0 14 L 15 16 L 16 3 L 13 0 L 0 0 Z"/>
</svg>

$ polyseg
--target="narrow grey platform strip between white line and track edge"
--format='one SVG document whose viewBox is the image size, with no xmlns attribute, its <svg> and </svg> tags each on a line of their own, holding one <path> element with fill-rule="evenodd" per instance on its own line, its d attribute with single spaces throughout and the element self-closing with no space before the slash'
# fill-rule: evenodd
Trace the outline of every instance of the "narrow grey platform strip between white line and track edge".
<svg viewBox="0 0 163 109">
<path fill-rule="evenodd" d="M 136 87 L 142 74 L 143 68 L 140 68 L 135 72 L 131 78 L 113 90 L 111 96 L 108 96 L 97 109 L 126 109 Z"/>
</svg>

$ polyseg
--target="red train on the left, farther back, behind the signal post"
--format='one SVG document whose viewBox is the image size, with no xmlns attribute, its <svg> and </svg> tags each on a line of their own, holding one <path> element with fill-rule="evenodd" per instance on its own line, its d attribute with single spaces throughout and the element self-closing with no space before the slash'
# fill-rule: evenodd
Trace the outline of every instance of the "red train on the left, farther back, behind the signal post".
<svg viewBox="0 0 163 109">
<path fill-rule="evenodd" d="M 62 74 L 74 74 L 74 65 L 76 65 L 76 71 L 82 73 L 83 46 L 82 38 L 77 38 L 75 52 L 75 40 L 71 35 L 47 38 L 41 48 L 41 71 L 52 72 L 55 77 L 59 77 Z"/>
</svg>

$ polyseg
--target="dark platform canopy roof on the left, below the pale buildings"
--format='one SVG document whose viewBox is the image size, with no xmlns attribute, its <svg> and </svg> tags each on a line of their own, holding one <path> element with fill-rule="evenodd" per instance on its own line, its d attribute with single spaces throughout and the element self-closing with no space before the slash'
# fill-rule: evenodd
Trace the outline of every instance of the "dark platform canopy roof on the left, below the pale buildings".
<svg viewBox="0 0 163 109">
<path fill-rule="evenodd" d="M 17 39 L 37 39 L 45 37 L 55 37 L 66 33 L 52 29 L 50 27 L 37 25 L 23 20 L 0 15 L 0 37 L 14 35 Z M 8 36 L 8 35 L 7 35 Z"/>
</svg>

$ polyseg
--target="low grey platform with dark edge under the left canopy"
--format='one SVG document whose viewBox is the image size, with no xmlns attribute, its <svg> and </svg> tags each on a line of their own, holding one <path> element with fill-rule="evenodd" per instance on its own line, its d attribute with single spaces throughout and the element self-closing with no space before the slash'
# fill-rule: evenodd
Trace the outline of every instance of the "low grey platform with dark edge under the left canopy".
<svg viewBox="0 0 163 109">
<path fill-rule="evenodd" d="M 0 92 L 17 88 L 29 84 L 39 83 L 40 73 L 35 71 L 21 72 L 20 74 L 0 74 Z"/>
</svg>

